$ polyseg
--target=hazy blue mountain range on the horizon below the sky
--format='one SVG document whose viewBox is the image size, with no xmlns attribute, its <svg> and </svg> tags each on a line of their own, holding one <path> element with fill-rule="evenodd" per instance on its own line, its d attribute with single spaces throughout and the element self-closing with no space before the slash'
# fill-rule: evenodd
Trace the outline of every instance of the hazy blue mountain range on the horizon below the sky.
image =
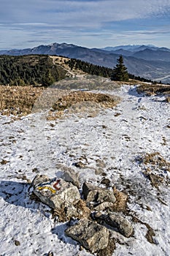
<svg viewBox="0 0 170 256">
<path fill-rule="evenodd" d="M 39 45 L 22 50 L 0 50 L 0 55 L 22 56 L 47 54 L 81 59 L 104 67 L 115 67 L 123 56 L 128 72 L 151 80 L 170 83 L 170 49 L 153 45 L 120 45 L 107 48 L 85 48 L 67 43 Z"/>
</svg>

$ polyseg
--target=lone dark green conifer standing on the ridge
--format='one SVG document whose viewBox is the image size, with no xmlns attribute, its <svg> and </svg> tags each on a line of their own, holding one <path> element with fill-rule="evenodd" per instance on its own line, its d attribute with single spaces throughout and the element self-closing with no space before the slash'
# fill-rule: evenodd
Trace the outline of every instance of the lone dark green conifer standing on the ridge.
<svg viewBox="0 0 170 256">
<path fill-rule="evenodd" d="M 123 64 L 123 56 L 120 56 L 119 59 L 117 59 L 117 64 L 113 69 L 111 80 L 117 80 L 117 81 L 128 81 L 128 71 L 127 67 Z"/>
</svg>

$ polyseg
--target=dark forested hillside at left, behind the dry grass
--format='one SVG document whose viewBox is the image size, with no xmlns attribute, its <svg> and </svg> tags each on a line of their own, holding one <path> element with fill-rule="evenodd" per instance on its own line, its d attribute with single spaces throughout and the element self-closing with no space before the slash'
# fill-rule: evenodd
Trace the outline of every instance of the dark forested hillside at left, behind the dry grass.
<svg viewBox="0 0 170 256">
<path fill-rule="evenodd" d="M 53 64 L 49 56 L 0 56 L 0 84 L 10 86 L 39 85 L 65 78 L 66 70 Z"/>
</svg>

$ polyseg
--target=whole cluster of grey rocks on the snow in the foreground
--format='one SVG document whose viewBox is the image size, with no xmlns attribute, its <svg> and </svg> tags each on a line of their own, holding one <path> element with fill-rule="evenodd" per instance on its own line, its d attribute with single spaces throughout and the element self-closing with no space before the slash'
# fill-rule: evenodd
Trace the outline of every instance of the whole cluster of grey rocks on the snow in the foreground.
<svg viewBox="0 0 170 256">
<path fill-rule="evenodd" d="M 53 179 L 37 175 L 31 185 L 34 194 L 54 209 L 60 221 L 76 220 L 65 233 L 91 253 L 98 254 L 108 248 L 113 228 L 127 238 L 134 232 L 122 212 L 127 195 L 117 189 L 101 188 L 85 182 L 81 199 L 80 182 L 74 173 L 65 173 L 63 178 Z M 107 255 L 112 255 L 112 252 L 107 252 Z"/>
</svg>

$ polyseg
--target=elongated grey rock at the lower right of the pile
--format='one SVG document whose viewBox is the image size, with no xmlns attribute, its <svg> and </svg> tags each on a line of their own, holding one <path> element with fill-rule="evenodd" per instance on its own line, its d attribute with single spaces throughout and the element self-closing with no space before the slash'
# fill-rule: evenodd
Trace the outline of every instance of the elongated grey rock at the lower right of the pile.
<svg viewBox="0 0 170 256">
<path fill-rule="evenodd" d="M 134 232 L 131 223 L 120 213 L 95 214 L 94 217 L 102 225 L 117 227 L 117 230 L 119 230 L 119 232 L 127 238 L 130 237 Z"/>
</svg>

